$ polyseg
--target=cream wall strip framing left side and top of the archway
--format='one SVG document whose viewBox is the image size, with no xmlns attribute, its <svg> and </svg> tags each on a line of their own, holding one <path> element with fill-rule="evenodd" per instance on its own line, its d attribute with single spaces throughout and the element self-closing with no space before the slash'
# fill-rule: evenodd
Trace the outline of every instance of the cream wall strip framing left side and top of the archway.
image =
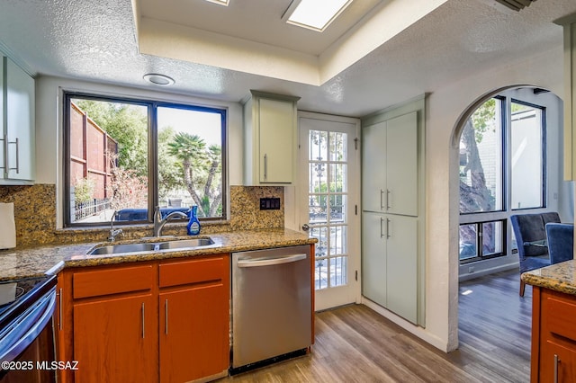
<svg viewBox="0 0 576 383">
<path fill-rule="evenodd" d="M 453 145 L 455 125 L 473 102 L 509 85 L 537 85 L 562 96 L 562 45 L 526 60 L 487 67 L 428 97 L 426 333 L 436 342 L 430 343 L 446 351 L 458 345 L 459 179 L 458 147 Z"/>
</svg>

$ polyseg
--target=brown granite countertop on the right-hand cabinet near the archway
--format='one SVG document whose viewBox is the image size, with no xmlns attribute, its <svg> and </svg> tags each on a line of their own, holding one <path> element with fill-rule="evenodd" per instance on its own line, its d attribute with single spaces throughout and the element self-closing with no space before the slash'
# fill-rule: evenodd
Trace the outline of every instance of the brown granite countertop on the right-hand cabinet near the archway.
<svg viewBox="0 0 576 383">
<path fill-rule="evenodd" d="M 524 272 L 521 278 L 533 286 L 576 295 L 576 260 Z"/>
</svg>

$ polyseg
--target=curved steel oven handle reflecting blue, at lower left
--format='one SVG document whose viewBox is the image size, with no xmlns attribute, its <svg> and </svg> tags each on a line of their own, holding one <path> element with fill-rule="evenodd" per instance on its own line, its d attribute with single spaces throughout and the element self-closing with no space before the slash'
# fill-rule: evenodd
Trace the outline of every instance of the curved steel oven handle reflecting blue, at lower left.
<svg viewBox="0 0 576 383">
<path fill-rule="evenodd" d="M 44 330 L 49 320 L 54 314 L 56 307 L 56 289 L 52 289 L 49 294 L 41 298 L 37 307 L 34 307 L 30 312 L 17 318 L 20 321 L 18 326 L 26 326 L 23 330 L 25 334 L 16 339 L 12 339 L 10 334 L 6 338 L 0 340 L 0 361 L 14 361 L 26 348 L 36 340 L 38 335 Z M 40 319 L 38 317 L 40 316 Z M 18 332 L 22 334 L 22 332 Z M 8 344 L 1 344 L 7 342 Z"/>
</svg>

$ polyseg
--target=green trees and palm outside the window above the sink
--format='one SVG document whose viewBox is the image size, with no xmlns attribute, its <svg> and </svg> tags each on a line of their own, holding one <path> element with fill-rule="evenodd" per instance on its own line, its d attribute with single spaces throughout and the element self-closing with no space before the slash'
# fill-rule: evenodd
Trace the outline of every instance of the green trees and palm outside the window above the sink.
<svg viewBox="0 0 576 383">
<path fill-rule="evenodd" d="M 115 209 L 148 205 L 148 111 L 138 105 L 74 100 L 89 118 L 118 143 L 118 154 L 112 154 L 112 190 Z M 157 133 L 158 198 L 166 200 L 170 193 L 186 190 L 198 205 L 199 217 L 221 215 L 221 148 L 207 147 L 202 138 L 173 127 Z M 137 196 L 130 193 L 135 184 Z M 127 187 L 128 186 L 128 187 Z M 133 186 L 131 186 L 133 187 Z M 88 192 L 88 193 L 91 193 Z M 82 196 L 84 198 L 84 194 Z M 138 200 L 134 200 L 134 198 Z"/>
</svg>

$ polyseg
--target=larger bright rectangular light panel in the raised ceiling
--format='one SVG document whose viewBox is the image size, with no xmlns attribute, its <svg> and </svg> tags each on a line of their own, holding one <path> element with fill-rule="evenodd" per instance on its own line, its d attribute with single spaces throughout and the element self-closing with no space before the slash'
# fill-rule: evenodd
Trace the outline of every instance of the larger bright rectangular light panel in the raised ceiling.
<svg viewBox="0 0 576 383">
<path fill-rule="evenodd" d="M 283 20 L 314 31 L 324 31 L 352 0 L 294 0 Z"/>
</svg>

